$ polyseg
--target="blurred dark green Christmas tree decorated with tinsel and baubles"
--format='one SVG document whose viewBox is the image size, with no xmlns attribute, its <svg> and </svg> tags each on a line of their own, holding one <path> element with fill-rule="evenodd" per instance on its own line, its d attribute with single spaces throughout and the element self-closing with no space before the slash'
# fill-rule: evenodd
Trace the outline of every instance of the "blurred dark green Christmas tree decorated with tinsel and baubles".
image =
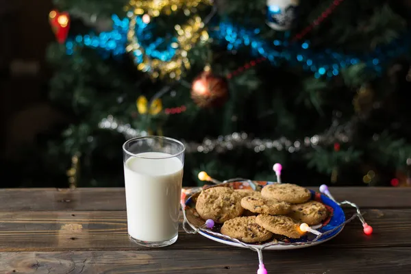
<svg viewBox="0 0 411 274">
<path fill-rule="evenodd" d="M 184 141 L 186 186 L 273 181 L 275 162 L 303 186 L 410 177 L 406 1 L 54 3 L 50 98 L 72 119 L 50 178 L 123 186 L 121 145 L 144 135 Z"/>
</svg>

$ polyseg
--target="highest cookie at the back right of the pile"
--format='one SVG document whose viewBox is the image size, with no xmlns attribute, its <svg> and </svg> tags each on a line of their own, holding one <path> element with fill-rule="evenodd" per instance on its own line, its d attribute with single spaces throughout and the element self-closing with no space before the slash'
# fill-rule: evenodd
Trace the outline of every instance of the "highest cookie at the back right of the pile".
<svg viewBox="0 0 411 274">
<path fill-rule="evenodd" d="M 304 203 L 311 198 L 310 190 L 296 184 L 269 184 L 262 188 L 261 195 L 287 203 Z"/>
</svg>

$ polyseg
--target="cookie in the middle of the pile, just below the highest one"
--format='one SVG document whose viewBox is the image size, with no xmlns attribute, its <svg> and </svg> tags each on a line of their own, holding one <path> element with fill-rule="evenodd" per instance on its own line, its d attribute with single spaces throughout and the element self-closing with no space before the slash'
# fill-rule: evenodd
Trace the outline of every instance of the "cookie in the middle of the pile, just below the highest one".
<svg viewBox="0 0 411 274">
<path fill-rule="evenodd" d="M 256 196 L 242 198 L 241 206 L 251 212 L 266 213 L 270 215 L 284 215 L 291 211 L 291 205 L 289 203 Z"/>
</svg>

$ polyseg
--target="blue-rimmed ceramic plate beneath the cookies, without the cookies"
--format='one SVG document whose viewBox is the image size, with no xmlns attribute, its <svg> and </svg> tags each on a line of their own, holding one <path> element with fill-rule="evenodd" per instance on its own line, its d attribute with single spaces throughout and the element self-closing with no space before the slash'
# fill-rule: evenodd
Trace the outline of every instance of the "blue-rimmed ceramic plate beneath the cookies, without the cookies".
<svg viewBox="0 0 411 274">
<path fill-rule="evenodd" d="M 261 181 L 253 181 L 254 184 L 258 184 L 260 186 L 265 186 L 267 184 L 276 184 L 274 182 L 261 182 Z M 229 183 L 223 183 L 219 186 L 229 186 L 234 189 L 251 189 L 254 188 L 255 186 L 252 186 L 252 184 L 249 184 L 249 181 L 242 181 L 242 182 L 229 182 Z M 210 186 L 214 187 L 214 186 Z M 273 245 L 270 247 L 266 247 L 266 250 L 282 250 L 282 249 L 299 249 L 303 247 L 310 247 L 312 245 L 319 245 L 321 242 L 326 242 L 327 240 L 331 240 L 335 236 L 337 236 L 344 228 L 343 223 L 345 222 L 345 214 L 343 212 L 343 209 L 338 206 L 337 203 L 332 201 L 332 199 L 329 199 L 325 195 L 322 195 L 319 192 L 314 192 L 310 190 L 312 193 L 312 200 L 319 201 L 323 203 L 326 207 L 327 210 L 330 212 L 330 216 L 328 219 L 326 219 L 323 223 L 320 225 L 313 226 L 314 229 L 317 229 L 319 232 L 328 232 L 332 229 L 335 229 L 333 232 L 326 234 L 324 236 L 321 236 L 316 242 L 311 242 L 314 238 L 314 234 L 307 234 L 306 236 L 303 236 L 299 239 L 290 239 L 285 236 L 279 236 L 276 239 L 279 240 L 280 242 L 285 242 L 287 243 L 286 245 Z M 197 212 L 195 211 L 195 201 L 197 199 L 197 196 L 199 195 L 199 192 L 194 193 L 188 199 L 186 199 L 186 216 L 188 219 L 188 223 L 192 228 L 197 228 L 200 225 L 202 225 L 205 221 L 199 217 Z M 338 227 L 341 225 L 340 227 Z M 338 229 L 336 229 L 338 227 Z M 216 226 L 212 230 L 214 232 L 220 232 L 221 226 Z M 199 231 L 199 234 L 202 236 L 205 236 L 206 238 L 209 238 L 211 240 L 214 240 L 216 242 L 221 242 L 225 245 L 232 245 L 234 247 L 243 247 L 243 245 L 240 245 L 238 242 L 233 242 L 232 240 L 227 240 L 225 238 L 219 237 L 219 236 L 214 236 L 208 232 L 204 231 Z M 259 244 L 251 244 L 254 247 L 261 247 L 261 245 L 264 245 L 266 242 L 261 242 Z"/>
</svg>

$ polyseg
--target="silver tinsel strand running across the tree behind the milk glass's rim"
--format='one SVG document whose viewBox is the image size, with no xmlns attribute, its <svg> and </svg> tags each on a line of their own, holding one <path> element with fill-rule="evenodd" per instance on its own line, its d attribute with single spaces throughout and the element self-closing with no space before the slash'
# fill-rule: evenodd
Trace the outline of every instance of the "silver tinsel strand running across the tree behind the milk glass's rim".
<svg viewBox="0 0 411 274">
<path fill-rule="evenodd" d="M 188 153 L 200 152 L 209 153 L 216 151 L 223 153 L 237 149 L 239 147 L 247 147 L 253 149 L 256 153 L 266 149 L 277 149 L 277 151 L 288 151 L 289 153 L 297 152 L 302 149 L 316 147 L 318 145 L 329 145 L 334 142 L 348 142 L 351 139 L 352 123 L 339 125 L 337 119 L 334 119 L 332 126 L 323 134 L 315 134 L 306 136 L 297 140 L 288 140 L 286 137 L 278 139 L 261 139 L 252 138 L 245 132 L 233 132 L 225 136 L 219 136 L 216 139 L 204 138 L 203 142 L 186 142 L 186 151 Z M 102 119 L 99 123 L 99 128 L 115 130 L 125 136 L 125 138 L 134 138 L 136 136 L 147 136 L 147 132 L 132 128 L 129 124 L 117 121 L 112 115 Z"/>
</svg>

